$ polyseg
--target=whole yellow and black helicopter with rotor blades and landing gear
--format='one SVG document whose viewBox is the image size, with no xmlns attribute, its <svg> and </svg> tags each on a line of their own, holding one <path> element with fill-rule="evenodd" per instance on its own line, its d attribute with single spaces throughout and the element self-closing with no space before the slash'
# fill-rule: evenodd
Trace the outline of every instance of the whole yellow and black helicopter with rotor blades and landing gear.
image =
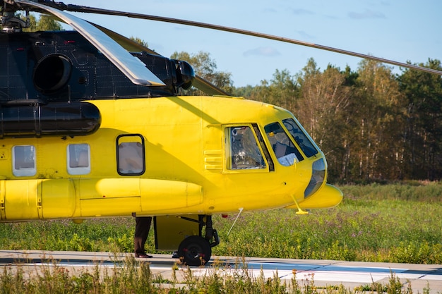
<svg viewBox="0 0 442 294">
<path fill-rule="evenodd" d="M 441 74 L 188 20 L 49 0 L 0 6 L 0 222 L 154 216 L 157 249 L 177 250 L 189 265 L 208 262 L 220 242 L 214 214 L 338 205 L 324 154 L 289 111 L 228 97 L 189 63 L 64 11 L 226 30 Z M 49 13 L 75 31 L 22 32 L 28 23 L 16 11 Z M 210 96 L 178 95 L 192 85 Z"/>
</svg>

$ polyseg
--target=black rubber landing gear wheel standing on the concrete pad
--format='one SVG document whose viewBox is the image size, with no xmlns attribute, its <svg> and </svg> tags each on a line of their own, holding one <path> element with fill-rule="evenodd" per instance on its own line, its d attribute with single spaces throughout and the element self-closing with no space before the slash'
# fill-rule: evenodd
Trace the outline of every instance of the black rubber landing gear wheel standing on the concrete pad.
<svg viewBox="0 0 442 294">
<path fill-rule="evenodd" d="M 183 264 L 201 266 L 210 260 L 212 248 L 205 238 L 191 235 L 179 244 L 178 256 Z"/>
</svg>

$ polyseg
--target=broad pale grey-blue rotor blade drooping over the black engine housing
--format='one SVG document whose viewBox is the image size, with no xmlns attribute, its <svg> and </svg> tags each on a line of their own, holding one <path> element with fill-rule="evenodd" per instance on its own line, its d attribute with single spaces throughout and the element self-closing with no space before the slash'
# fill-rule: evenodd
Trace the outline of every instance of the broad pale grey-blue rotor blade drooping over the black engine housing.
<svg viewBox="0 0 442 294">
<path fill-rule="evenodd" d="M 85 39 L 87 39 L 95 48 L 100 50 L 104 56 L 114 63 L 121 72 L 126 75 L 134 84 L 149 85 L 149 86 L 164 86 L 164 82 L 154 75 L 145 64 L 132 56 L 128 51 L 122 48 L 117 42 L 109 36 L 98 30 L 93 25 L 90 25 L 85 20 L 72 16 L 69 13 L 60 11 L 44 4 L 40 4 L 28 0 L 14 0 L 16 4 L 31 6 L 33 8 L 41 9 L 47 13 L 52 14 L 56 18 L 61 19 L 68 25 L 71 25 L 78 31 Z"/>
</svg>

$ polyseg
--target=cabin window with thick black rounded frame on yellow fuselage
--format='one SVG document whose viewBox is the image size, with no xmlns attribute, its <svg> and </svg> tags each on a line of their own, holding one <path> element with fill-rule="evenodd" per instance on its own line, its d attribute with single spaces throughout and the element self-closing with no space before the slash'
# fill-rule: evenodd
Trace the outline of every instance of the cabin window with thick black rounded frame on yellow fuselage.
<svg viewBox="0 0 442 294">
<path fill-rule="evenodd" d="M 144 138 L 141 135 L 117 137 L 117 167 L 121 176 L 137 176 L 145 171 Z"/>
</svg>

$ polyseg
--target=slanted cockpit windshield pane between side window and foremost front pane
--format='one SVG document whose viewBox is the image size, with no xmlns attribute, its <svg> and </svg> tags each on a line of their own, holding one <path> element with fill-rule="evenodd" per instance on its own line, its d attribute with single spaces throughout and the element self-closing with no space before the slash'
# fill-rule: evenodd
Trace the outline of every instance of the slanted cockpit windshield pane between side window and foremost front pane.
<svg viewBox="0 0 442 294">
<path fill-rule="evenodd" d="M 304 160 L 301 152 L 294 146 L 292 140 L 289 139 L 289 136 L 285 133 L 280 123 L 265 125 L 264 130 L 272 145 L 273 152 L 275 152 L 277 161 L 280 164 L 283 166 L 291 166 L 295 162 Z"/>
</svg>

